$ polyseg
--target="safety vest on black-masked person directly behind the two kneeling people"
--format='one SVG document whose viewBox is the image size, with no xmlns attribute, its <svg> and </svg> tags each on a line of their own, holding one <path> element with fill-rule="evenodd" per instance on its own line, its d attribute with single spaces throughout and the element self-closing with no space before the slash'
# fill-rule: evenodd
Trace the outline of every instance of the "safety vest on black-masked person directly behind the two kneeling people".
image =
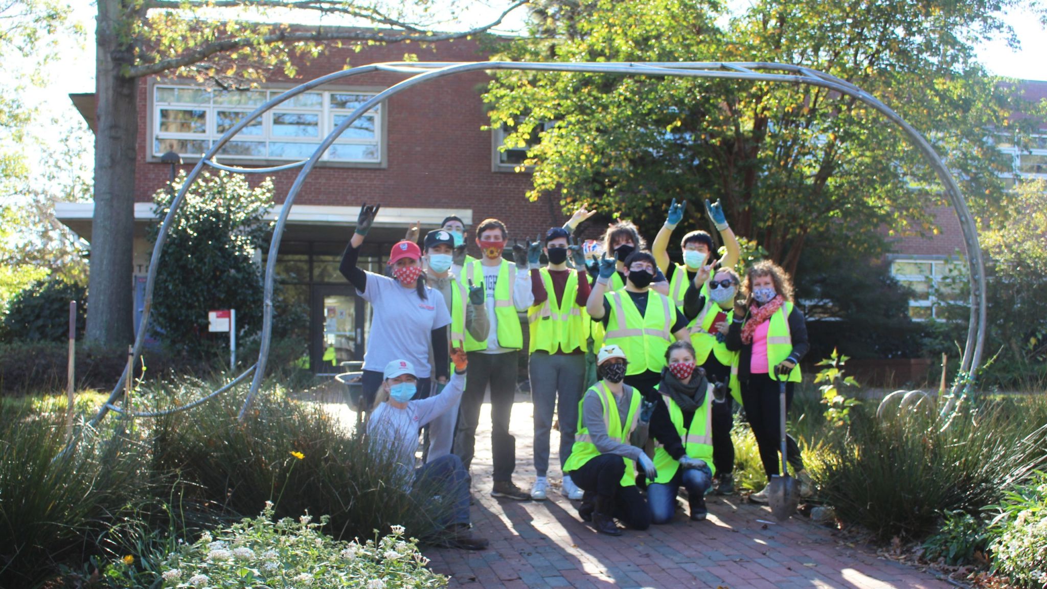
<svg viewBox="0 0 1047 589">
<path fill-rule="evenodd" d="M 624 288 L 605 294 L 610 302 L 610 319 L 604 344 L 617 344 L 628 359 L 626 375 L 641 374 L 647 370 L 662 372 L 665 352 L 672 342 L 675 307 L 668 297 L 653 290 L 647 291 L 647 309 L 640 317 L 640 309 Z"/>
</svg>

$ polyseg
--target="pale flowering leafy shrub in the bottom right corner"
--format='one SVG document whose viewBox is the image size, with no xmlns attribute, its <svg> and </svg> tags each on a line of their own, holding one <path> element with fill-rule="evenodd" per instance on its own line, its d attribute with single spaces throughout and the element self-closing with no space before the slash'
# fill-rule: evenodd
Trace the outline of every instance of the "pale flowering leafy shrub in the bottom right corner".
<svg viewBox="0 0 1047 589">
<path fill-rule="evenodd" d="M 1037 472 L 994 507 L 995 570 L 1022 587 L 1047 585 L 1047 474 Z"/>
</svg>

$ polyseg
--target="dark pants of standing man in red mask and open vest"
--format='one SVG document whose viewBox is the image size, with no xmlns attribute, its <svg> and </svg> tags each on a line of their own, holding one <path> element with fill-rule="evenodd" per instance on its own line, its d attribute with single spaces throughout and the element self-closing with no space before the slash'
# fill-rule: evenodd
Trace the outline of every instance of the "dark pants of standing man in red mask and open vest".
<svg viewBox="0 0 1047 589">
<path fill-rule="evenodd" d="M 516 351 L 500 354 L 469 352 L 469 378 L 465 381 L 462 405 L 459 407 L 454 450 L 466 471 L 472 463 L 476 446 L 476 427 L 484 392 L 491 385 L 491 454 L 493 479 L 508 481 L 516 468 L 516 438 L 509 433 L 516 397 Z"/>
</svg>

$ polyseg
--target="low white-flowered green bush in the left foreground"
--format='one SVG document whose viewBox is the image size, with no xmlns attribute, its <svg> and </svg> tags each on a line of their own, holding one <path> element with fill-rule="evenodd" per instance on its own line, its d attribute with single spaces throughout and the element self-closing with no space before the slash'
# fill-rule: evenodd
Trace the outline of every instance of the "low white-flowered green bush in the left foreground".
<svg viewBox="0 0 1047 589">
<path fill-rule="evenodd" d="M 209 585 L 285 587 L 444 587 L 447 577 L 425 568 L 428 559 L 402 526 L 366 542 L 338 542 L 320 529 L 328 517 L 273 522 L 272 504 L 262 515 L 231 527 L 205 532 L 163 563 L 164 587 Z M 119 565 L 116 565 L 119 570 Z"/>
</svg>

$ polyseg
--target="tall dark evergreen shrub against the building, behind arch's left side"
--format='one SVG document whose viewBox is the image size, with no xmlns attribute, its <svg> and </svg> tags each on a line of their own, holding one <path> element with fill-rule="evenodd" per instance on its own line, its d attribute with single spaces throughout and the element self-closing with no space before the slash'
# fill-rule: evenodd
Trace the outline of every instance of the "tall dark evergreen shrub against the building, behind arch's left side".
<svg viewBox="0 0 1047 589">
<path fill-rule="evenodd" d="M 170 210 L 172 190 L 154 195 L 157 224 Z M 195 359 L 223 354 L 227 335 L 207 332 L 207 311 L 237 309 L 238 339 L 261 326 L 261 268 L 254 250 L 263 245 L 271 223 L 264 217 L 272 204 L 272 182 L 255 188 L 239 174 L 203 173 L 186 194 L 171 226 L 157 269 L 152 320 L 163 344 Z"/>
</svg>

